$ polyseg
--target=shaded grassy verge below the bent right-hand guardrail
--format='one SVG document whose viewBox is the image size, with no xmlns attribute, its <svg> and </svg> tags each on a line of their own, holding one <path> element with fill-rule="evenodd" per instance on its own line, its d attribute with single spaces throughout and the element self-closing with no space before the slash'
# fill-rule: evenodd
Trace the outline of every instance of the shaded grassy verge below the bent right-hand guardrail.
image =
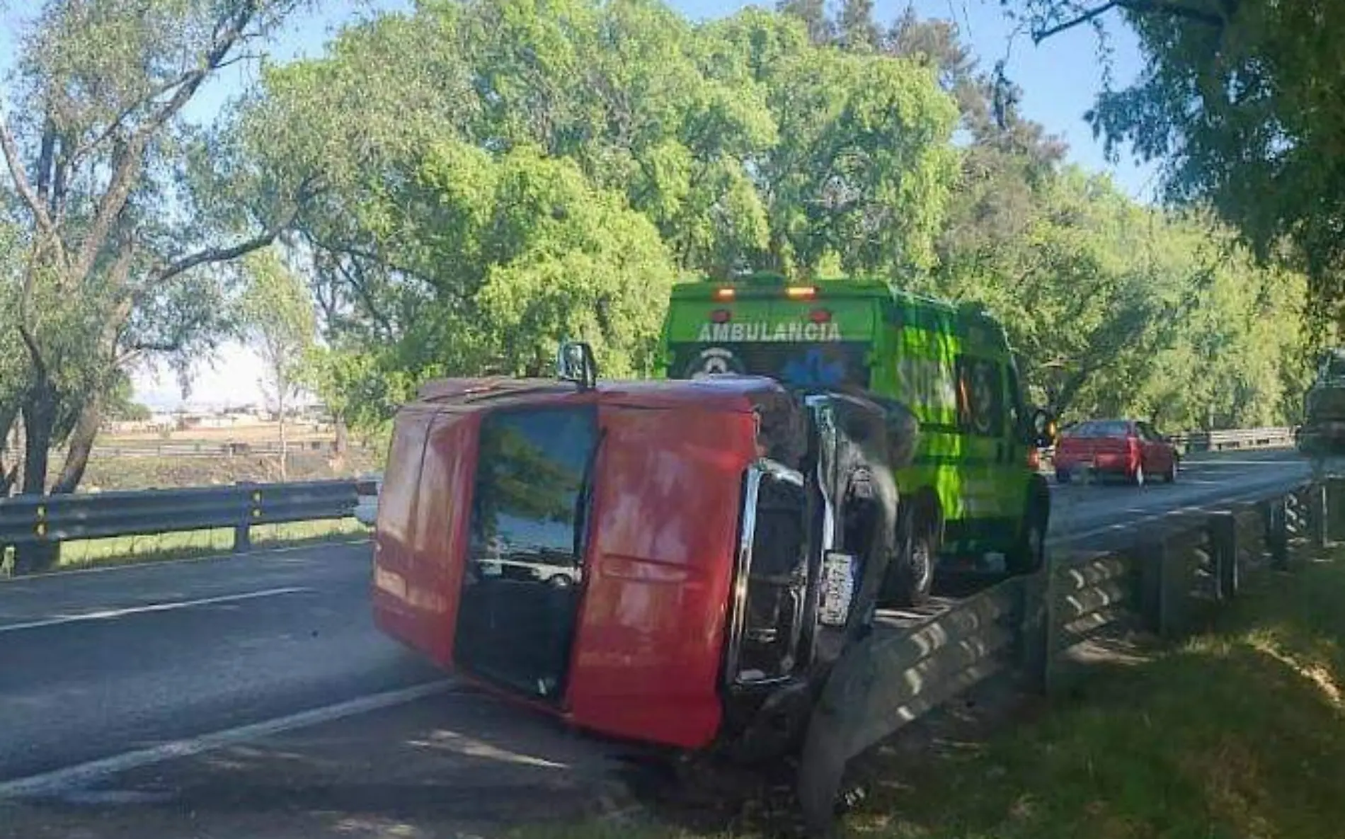
<svg viewBox="0 0 1345 839">
<path fill-rule="evenodd" d="M 1260 575 L 1217 624 L 1102 667 L 986 742 L 880 758 L 845 820 L 892 839 L 1322 839 L 1345 835 L 1345 551 Z M 527 839 L 707 836 L 527 828 Z M 720 834 L 728 836 L 729 834 Z M 767 835 L 765 828 L 736 836 Z"/>
</svg>

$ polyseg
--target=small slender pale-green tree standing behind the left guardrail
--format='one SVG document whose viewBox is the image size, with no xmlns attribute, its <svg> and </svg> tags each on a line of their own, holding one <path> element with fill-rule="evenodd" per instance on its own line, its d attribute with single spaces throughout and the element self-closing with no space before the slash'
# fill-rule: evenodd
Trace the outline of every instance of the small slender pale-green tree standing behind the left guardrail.
<svg viewBox="0 0 1345 839">
<path fill-rule="evenodd" d="M 247 254 L 242 268 L 247 277 L 241 301 L 243 335 L 266 367 L 261 386 L 280 420 L 280 480 L 285 480 L 286 411 L 303 393 L 304 366 L 317 331 L 312 294 L 273 247 Z"/>
</svg>

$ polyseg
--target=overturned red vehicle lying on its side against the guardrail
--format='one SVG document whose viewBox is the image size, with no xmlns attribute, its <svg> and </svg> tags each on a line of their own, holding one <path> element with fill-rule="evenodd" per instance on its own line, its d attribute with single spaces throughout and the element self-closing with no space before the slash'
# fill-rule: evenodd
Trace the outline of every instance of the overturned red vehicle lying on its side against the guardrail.
<svg viewBox="0 0 1345 839">
<path fill-rule="evenodd" d="M 577 726 L 682 749 L 796 742 L 900 565 L 915 424 L 759 376 L 448 379 L 404 406 L 377 625 Z"/>
</svg>

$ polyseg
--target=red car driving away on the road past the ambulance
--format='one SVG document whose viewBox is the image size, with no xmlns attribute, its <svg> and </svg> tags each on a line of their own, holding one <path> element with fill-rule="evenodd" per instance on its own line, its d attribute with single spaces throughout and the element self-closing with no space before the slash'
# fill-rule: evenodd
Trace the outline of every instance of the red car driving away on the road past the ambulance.
<svg viewBox="0 0 1345 839">
<path fill-rule="evenodd" d="M 1173 483 L 1180 463 L 1171 441 L 1135 420 L 1089 420 L 1065 429 L 1054 457 L 1056 480 L 1063 484 L 1077 472 L 1116 475 L 1135 485 L 1150 476 Z"/>
</svg>

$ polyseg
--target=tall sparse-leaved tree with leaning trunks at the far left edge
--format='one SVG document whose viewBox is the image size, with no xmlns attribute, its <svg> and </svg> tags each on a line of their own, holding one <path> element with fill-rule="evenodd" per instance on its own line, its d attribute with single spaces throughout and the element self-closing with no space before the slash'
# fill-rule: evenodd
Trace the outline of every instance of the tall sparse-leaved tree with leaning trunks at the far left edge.
<svg viewBox="0 0 1345 839">
<path fill-rule="evenodd" d="M 249 172 L 222 141 L 227 124 L 182 116 L 297 1 L 145 0 L 130 13 L 50 0 L 20 34 L 0 152 L 23 242 L 7 293 L 23 347 L 24 492 L 47 488 L 48 450 L 66 437 L 51 491 L 75 488 L 106 395 L 137 359 L 186 367 L 213 346 L 226 325 L 213 266 L 270 242 L 312 191 L 270 180 L 231 200 Z"/>
</svg>

